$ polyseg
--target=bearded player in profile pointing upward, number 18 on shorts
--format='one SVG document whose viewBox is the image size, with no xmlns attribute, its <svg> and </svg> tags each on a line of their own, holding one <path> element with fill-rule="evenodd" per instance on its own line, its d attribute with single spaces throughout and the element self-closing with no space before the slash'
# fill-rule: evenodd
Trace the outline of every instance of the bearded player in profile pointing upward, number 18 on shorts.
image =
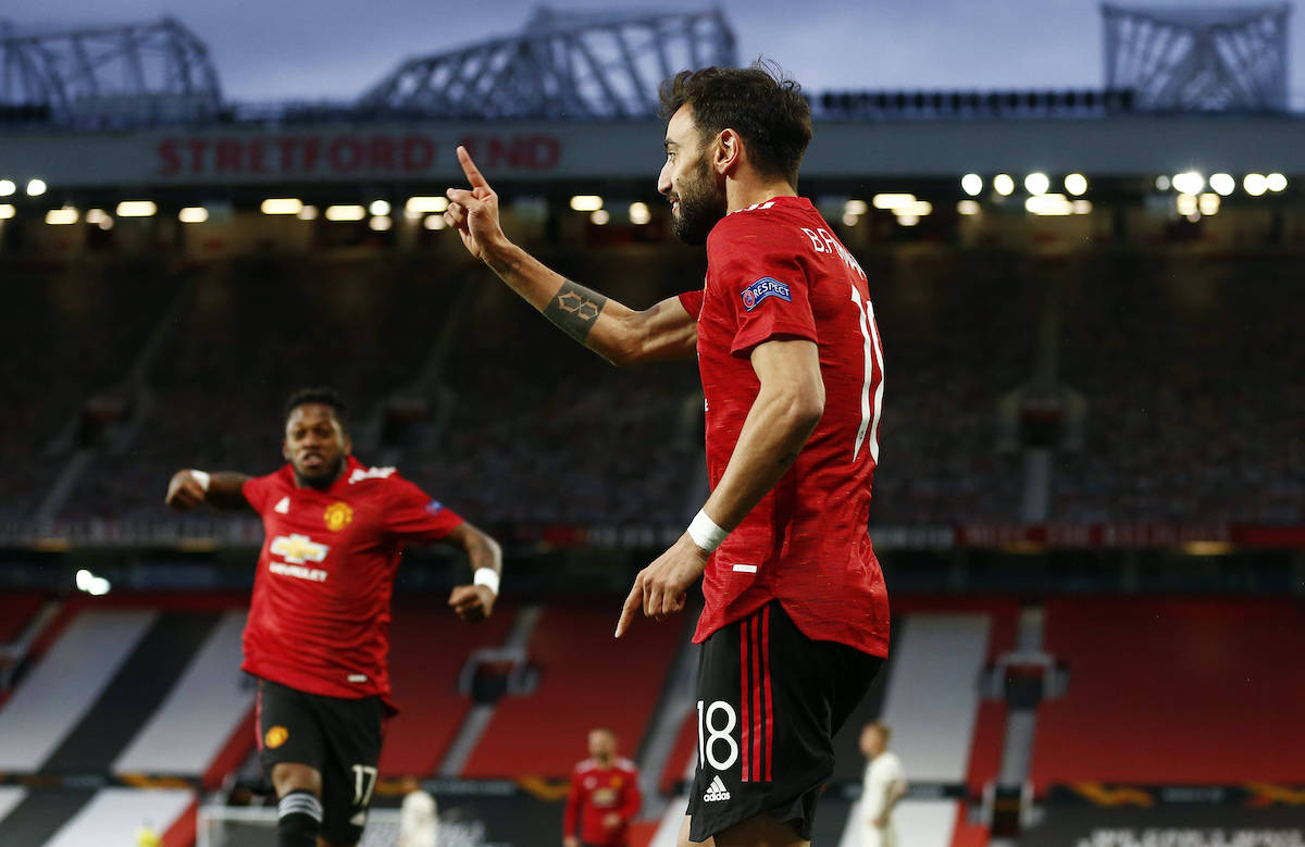
<svg viewBox="0 0 1305 847">
<path fill-rule="evenodd" d="M 698 356 L 711 496 L 639 572 L 616 634 L 684 608 L 694 641 L 698 770 L 681 842 L 804 844 L 833 737 L 887 655 L 887 594 L 867 531 L 883 355 L 864 270 L 797 196 L 810 141 L 800 87 L 766 65 L 683 72 L 662 87 L 658 191 L 707 245 L 699 291 L 643 311 L 514 245 L 462 147 L 448 191 L 463 245 L 544 317 L 620 365 Z M 688 469 L 686 469 L 688 475 Z"/>
</svg>

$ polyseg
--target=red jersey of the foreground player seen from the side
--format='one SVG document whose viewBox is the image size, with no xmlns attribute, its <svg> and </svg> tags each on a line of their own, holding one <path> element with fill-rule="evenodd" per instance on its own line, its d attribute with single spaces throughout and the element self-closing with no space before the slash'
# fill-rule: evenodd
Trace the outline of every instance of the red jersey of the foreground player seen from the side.
<svg viewBox="0 0 1305 847">
<path fill-rule="evenodd" d="M 680 300 L 698 316 L 713 488 L 761 388 L 757 345 L 814 342 L 825 381 L 825 414 L 797 461 L 707 562 L 694 641 L 774 598 L 809 638 L 887 655 L 887 593 L 867 531 L 883 352 L 865 271 L 809 200 L 776 197 L 716 223 L 706 287 Z"/>
</svg>

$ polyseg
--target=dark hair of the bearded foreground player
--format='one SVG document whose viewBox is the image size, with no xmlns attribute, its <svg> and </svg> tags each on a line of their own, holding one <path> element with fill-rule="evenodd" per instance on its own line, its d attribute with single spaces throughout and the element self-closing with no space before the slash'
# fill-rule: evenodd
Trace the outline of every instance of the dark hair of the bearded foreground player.
<svg viewBox="0 0 1305 847">
<path fill-rule="evenodd" d="M 688 104 L 703 144 L 733 129 L 760 171 L 797 187 L 812 110 L 803 86 L 784 78 L 779 65 L 758 59 L 750 68 L 681 70 L 662 84 L 660 95 L 663 119 Z"/>
</svg>

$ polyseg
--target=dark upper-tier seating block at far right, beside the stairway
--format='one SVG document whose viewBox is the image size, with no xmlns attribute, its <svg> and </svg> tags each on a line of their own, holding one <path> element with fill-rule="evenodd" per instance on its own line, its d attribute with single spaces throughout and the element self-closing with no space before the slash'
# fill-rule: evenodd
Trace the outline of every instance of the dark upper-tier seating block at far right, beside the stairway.
<svg viewBox="0 0 1305 847">
<path fill-rule="evenodd" d="M 1296 265 L 1103 252 L 1071 268 L 1062 375 L 1088 435 L 1058 461 L 1057 519 L 1305 521 Z"/>
</svg>

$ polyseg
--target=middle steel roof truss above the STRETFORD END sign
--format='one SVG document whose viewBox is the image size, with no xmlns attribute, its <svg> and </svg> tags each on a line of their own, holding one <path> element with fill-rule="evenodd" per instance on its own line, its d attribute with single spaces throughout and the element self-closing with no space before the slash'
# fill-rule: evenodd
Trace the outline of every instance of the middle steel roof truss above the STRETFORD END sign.
<svg viewBox="0 0 1305 847">
<path fill-rule="evenodd" d="M 360 106 L 441 117 L 643 117 L 656 112 L 662 80 L 736 64 L 720 10 L 540 8 L 519 35 L 403 61 Z"/>
</svg>

